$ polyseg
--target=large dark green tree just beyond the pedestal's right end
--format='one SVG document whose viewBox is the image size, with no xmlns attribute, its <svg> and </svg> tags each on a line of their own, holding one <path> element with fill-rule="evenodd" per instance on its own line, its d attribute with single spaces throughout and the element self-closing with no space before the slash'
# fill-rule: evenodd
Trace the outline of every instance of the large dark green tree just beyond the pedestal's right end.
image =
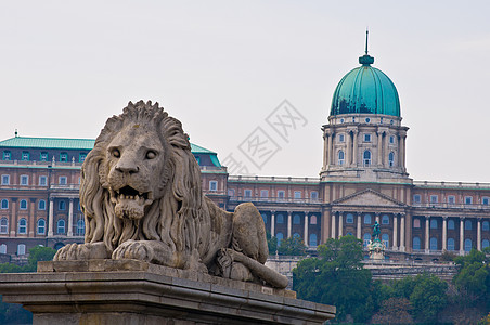
<svg viewBox="0 0 490 325">
<path fill-rule="evenodd" d="M 371 272 L 361 264 L 362 243 L 353 236 L 330 238 L 319 246 L 319 258 L 300 261 L 293 270 L 293 289 L 299 299 L 334 304 L 337 320 L 356 322 L 371 316 L 374 302 Z"/>
</svg>

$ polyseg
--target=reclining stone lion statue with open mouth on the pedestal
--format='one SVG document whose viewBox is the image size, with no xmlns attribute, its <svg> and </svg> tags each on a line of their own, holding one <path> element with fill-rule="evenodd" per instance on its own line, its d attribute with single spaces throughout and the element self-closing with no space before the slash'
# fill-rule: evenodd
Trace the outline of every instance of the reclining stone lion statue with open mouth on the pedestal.
<svg viewBox="0 0 490 325">
<path fill-rule="evenodd" d="M 284 288 L 263 263 L 266 229 L 253 204 L 218 208 L 202 191 L 201 170 L 182 125 L 158 103 L 128 104 L 107 119 L 81 168 L 85 244 L 55 261 L 138 259 Z"/>
</svg>

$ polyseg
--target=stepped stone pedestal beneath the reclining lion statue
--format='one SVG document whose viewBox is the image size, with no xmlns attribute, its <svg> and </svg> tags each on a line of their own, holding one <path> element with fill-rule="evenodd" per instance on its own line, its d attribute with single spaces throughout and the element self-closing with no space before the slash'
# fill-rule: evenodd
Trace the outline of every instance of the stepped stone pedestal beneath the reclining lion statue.
<svg viewBox="0 0 490 325">
<path fill-rule="evenodd" d="M 335 307 L 295 292 L 136 260 L 40 262 L 0 274 L 3 301 L 34 324 L 322 324 Z"/>
</svg>

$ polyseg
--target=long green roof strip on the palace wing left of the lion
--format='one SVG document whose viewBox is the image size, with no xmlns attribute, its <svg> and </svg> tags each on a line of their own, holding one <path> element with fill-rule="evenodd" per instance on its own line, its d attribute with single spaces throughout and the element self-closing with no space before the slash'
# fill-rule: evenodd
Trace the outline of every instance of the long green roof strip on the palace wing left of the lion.
<svg viewBox="0 0 490 325">
<path fill-rule="evenodd" d="M 92 139 L 62 139 L 62 138 L 28 138 L 15 136 L 0 141 L 0 147 L 38 147 L 38 148 L 64 148 L 87 150 L 93 148 L 95 140 Z"/>
</svg>

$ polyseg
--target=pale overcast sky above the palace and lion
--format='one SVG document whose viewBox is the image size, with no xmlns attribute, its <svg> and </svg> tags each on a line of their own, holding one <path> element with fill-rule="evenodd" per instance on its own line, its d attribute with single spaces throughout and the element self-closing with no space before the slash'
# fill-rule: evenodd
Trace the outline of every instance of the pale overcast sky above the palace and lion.
<svg viewBox="0 0 490 325">
<path fill-rule="evenodd" d="M 1 1 L 0 139 L 94 139 L 129 101 L 152 100 L 195 144 L 252 174 L 318 177 L 321 126 L 359 66 L 395 82 L 417 181 L 490 182 L 490 1 Z M 287 100 L 287 142 L 267 117 Z M 261 168 L 257 128 L 281 150 Z"/>
</svg>

